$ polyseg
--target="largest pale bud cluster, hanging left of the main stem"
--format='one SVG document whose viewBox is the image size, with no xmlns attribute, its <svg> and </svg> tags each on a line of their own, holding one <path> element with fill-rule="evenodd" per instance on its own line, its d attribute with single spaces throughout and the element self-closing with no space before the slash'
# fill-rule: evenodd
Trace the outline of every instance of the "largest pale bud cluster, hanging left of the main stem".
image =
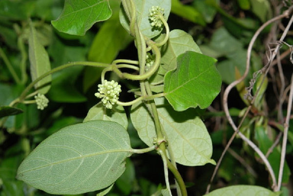
<svg viewBox="0 0 293 196">
<path fill-rule="evenodd" d="M 98 91 L 95 96 L 102 98 L 102 103 L 107 109 L 112 109 L 112 105 L 116 104 L 121 92 L 121 86 L 114 80 L 104 80 L 101 85 L 98 85 Z"/>
</svg>

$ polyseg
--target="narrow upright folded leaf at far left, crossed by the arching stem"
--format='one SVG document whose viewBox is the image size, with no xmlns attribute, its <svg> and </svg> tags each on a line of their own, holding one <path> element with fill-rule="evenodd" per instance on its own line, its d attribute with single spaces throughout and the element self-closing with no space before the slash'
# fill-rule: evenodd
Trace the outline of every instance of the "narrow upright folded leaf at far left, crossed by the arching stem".
<svg viewBox="0 0 293 196">
<path fill-rule="evenodd" d="M 30 33 L 28 38 L 28 54 L 30 61 L 30 72 L 32 80 L 36 80 L 42 74 L 51 70 L 49 55 L 45 48 L 40 43 L 35 27 L 30 22 Z M 39 92 L 45 94 L 50 89 L 52 78 L 51 75 L 46 76 L 40 82 L 35 85 L 35 88 L 39 88 Z"/>
</svg>

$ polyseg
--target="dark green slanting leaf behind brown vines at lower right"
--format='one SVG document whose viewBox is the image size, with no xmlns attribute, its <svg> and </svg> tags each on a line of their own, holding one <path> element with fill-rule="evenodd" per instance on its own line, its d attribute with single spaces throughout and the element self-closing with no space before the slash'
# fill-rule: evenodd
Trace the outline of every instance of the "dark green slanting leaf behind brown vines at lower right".
<svg viewBox="0 0 293 196">
<path fill-rule="evenodd" d="M 269 148 L 271 148 L 273 142 L 272 142 L 272 140 L 269 139 L 268 135 L 266 134 L 265 128 L 262 126 L 256 126 L 254 134 L 255 134 L 254 138 L 258 142 L 259 149 L 264 154 L 266 154 L 268 152 Z M 279 167 L 280 167 L 280 158 L 281 158 L 281 152 L 277 148 L 274 148 L 272 153 L 268 157 L 268 160 L 272 166 L 272 170 L 273 170 L 276 178 L 278 178 Z M 287 164 L 287 161 L 285 160 L 282 182 L 288 183 L 290 175 L 291 175 L 291 172 L 290 172 L 289 166 Z"/>
</svg>

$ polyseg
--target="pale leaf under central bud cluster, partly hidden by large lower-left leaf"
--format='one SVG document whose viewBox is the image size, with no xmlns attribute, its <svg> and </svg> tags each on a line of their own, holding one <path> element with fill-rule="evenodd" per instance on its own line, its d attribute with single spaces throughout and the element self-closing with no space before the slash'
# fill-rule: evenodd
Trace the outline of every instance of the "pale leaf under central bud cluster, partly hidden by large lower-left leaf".
<svg viewBox="0 0 293 196">
<path fill-rule="evenodd" d="M 84 118 L 84 122 L 91 120 L 108 120 L 114 121 L 125 129 L 127 129 L 128 121 L 126 117 L 125 110 L 122 106 L 113 107 L 113 109 L 106 109 L 103 106 L 102 102 L 99 102 L 91 109 L 89 109 L 86 117 Z"/>
</svg>

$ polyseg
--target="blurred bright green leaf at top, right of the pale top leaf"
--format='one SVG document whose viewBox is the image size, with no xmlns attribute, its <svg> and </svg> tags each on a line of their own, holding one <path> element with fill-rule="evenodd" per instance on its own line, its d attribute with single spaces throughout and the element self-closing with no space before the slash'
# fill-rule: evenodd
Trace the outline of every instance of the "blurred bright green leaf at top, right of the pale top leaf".
<svg viewBox="0 0 293 196">
<path fill-rule="evenodd" d="M 200 25 L 206 25 L 206 22 L 199 11 L 197 11 L 194 7 L 183 5 L 180 0 L 172 0 L 171 4 L 171 12 L 176 14 L 188 21 L 198 23 Z"/>
</svg>

